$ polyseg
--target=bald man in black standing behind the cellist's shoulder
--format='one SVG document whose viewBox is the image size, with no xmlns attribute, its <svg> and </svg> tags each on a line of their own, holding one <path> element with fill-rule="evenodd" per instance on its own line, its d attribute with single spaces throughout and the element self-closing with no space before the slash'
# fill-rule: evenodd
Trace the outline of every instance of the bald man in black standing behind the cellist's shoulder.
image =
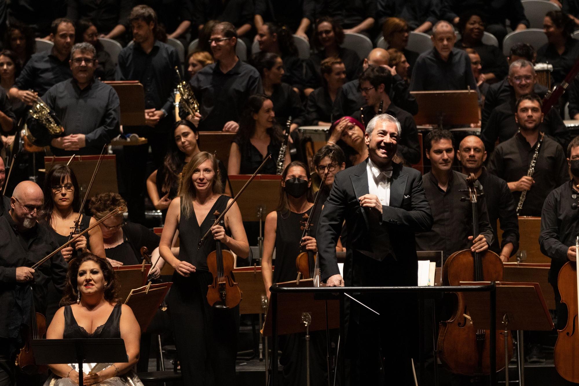
<svg viewBox="0 0 579 386">
<path fill-rule="evenodd" d="M 460 142 L 456 152 L 462 165 L 463 174 L 472 173 L 482 184 L 485 192 L 486 207 L 489 212 L 490 226 L 493 228 L 493 242 L 489 249 L 507 262 L 519 249 L 519 220 L 516 216 L 516 203 L 507 183 L 482 166 L 486 159 L 485 145 L 476 136 L 468 136 Z M 500 221 L 503 238 L 499 245 L 497 220 Z"/>
</svg>

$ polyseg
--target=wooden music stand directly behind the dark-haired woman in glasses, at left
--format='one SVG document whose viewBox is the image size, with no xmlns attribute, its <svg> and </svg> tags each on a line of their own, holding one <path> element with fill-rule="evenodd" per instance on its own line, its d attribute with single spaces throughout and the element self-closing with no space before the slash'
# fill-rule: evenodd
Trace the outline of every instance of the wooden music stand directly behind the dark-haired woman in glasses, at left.
<svg viewBox="0 0 579 386">
<path fill-rule="evenodd" d="M 70 168 L 76 176 L 80 188 L 80 197 L 85 195 L 85 192 L 90 184 L 90 179 L 93 176 L 94 168 L 97 166 L 99 155 L 76 155 L 70 163 Z M 69 156 L 65 157 L 48 157 L 44 158 L 46 165 L 46 172 L 50 170 L 52 165 L 60 163 L 67 164 L 70 160 Z M 116 180 L 116 156 L 114 154 L 102 156 L 102 163 L 96 177 L 94 177 L 93 187 L 89 192 L 89 198 L 93 198 L 100 193 L 118 193 L 119 187 Z"/>
</svg>

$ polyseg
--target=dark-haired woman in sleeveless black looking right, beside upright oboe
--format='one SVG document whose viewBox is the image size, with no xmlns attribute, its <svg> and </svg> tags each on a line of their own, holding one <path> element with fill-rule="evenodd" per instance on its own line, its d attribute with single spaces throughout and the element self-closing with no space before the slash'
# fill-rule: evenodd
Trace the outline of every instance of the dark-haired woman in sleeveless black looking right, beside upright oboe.
<svg viewBox="0 0 579 386">
<path fill-rule="evenodd" d="M 250 96 L 239 121 L 229 150 L 229 174 L 253 174 L 268 154 L 272 155 L 259 172 L 276 174 L 277 156 L 283 142 L 283 132 L 275 120 L 273 102 L 263 94 Z M 290 147 L 285 152 L 284 166 L 290 163 Z"/>
</svg>

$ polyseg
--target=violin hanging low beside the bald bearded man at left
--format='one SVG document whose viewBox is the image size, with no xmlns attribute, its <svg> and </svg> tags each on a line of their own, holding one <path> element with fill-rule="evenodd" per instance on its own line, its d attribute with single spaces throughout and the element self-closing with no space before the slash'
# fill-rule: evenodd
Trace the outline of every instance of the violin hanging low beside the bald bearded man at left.
<svg viewBox="0 0 579 386">
<path fill-rule="evenodd" d="M 32 311 L 30 318 L 30 326 L 23 330 L 24 347 L 16 356 L 16 366 L 28 375 L 46 373 L 48 366 L 36 365 L 36 358 L 32 351 L 32 339 L 46 338 L 46 318 L 40 312 L 36 312 L 34 308 L 34 295 L 32 294 L 32 286 L 30 286 L 30 295 L 32 296 Z"/>
</svg>

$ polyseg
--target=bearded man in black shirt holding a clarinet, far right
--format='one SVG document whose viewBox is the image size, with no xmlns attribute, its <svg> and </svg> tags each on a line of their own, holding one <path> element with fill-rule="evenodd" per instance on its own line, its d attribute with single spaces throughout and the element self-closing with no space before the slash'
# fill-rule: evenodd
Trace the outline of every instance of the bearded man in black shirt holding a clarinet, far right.
<svg viewBox="0 0 579 386">
<path fill-rule="evenodd" d="M 519 132 L 500 143 L 489 162 L 489 173 L 507 181 L 516 203 L 527 191 L 519 216 L 540 216 L 547 195 L 568 178 L 563 147 L 539 130 L 543 122 L 541 106 L 536 95 L 519 98 L 515 105 Z M 527 176 L 540 139 L 534 173 Z"/>
</svg>

